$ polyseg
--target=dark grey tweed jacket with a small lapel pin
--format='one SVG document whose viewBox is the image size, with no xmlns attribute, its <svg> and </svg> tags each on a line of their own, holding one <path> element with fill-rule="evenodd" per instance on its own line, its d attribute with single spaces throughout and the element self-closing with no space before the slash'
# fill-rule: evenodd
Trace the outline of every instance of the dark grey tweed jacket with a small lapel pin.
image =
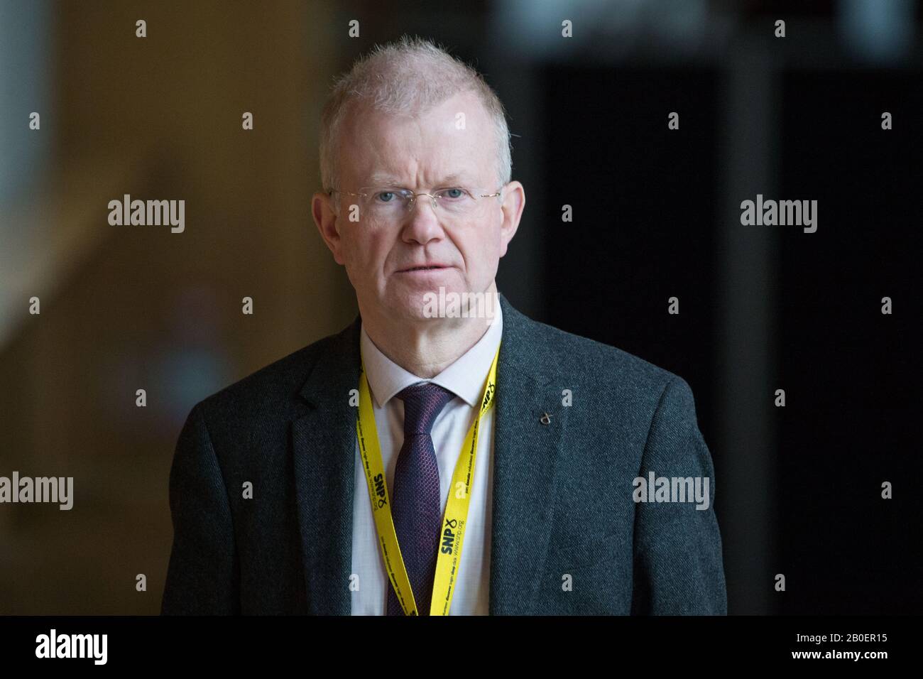
<svg viewBox="0 0 923 679">
<path fill-rule="evenodd" d="M 491 614 L 726 614 L 689 384 L 499 299 Z M 170 472 L 162 614 L 350 613 L 359 329 L 192 408 Z M 652 472 L 710 479 L 708 508 L 636 502 L 634 479 Z"/>
</svg>

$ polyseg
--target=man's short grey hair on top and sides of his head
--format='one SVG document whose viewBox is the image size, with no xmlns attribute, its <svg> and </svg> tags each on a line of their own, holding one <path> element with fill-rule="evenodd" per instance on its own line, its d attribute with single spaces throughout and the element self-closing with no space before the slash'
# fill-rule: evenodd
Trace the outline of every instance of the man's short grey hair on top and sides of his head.
<svg viewBox="0 0 923 679">
<path fill-rule="evenodd" d="M 406 78 L 408 73 L 423 78 Z M 497 178 L 508 184 L 512 152 L 506 112 L 485 79 L 442 46 L 402 35 L 384 46 L 376 45 L 353 68 L 336 79 L 320 115 L 320 180 L 325 191 L 337 188 L 337 157 L 342 121 L 357 103 L 371 110 L 411 115 L 462 91 L 474 91 L 493 119 L 497 146 Z"/>
</svg>

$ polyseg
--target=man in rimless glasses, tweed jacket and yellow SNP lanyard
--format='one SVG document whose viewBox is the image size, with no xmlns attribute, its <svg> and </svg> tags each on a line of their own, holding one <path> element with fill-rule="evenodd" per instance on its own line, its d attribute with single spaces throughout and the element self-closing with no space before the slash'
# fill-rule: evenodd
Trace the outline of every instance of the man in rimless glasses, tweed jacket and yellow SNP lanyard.
<svg viewBox="0 0 923 679">
<path fill-rule="evenodd" d="M 726 612 L 713 493 L 659 485 L 713 491 L 689 384 L 497 293 L 510 165 L 430 42 L 338 82 L 312 207 L 359 316 L 192 409 L 162 612 Z"/>
</svg>

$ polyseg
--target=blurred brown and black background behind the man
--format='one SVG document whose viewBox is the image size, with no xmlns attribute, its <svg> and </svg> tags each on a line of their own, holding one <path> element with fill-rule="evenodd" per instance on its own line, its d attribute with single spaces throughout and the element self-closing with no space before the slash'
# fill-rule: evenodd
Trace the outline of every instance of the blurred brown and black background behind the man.
<svg viewBox="0 0 923 679">
<path fill-rule="evenodd" d="M 921 17 L 917 0 L 0 0 L 0 476 L 75 478 L 69 512 L 0 504 L 0 613 L 159 612 L 189 409 L 357 312 L 310 216 L 318 118 L 336 74 L 405 32 L 507 106 L 526 209 L 500 291 L 691 385 L 729 612 L 920 612 Z M 126 193 L 186 200 L 185 232 L 109 225 Z M 818 200 L 817 232 L 741 226 L 758 193 Z"/>
</svg>

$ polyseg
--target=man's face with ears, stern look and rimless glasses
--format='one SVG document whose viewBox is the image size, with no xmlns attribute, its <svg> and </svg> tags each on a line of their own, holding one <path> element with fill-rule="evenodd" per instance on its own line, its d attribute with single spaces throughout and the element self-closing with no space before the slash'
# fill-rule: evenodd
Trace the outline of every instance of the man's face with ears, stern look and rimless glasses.
<svg viewBox="0 0 923 679">
<path fill-rule="evenodd" d="M 464 116 L 464 126 L 458 121 Z M 427 196 L 390 220 L 372 219 L 363 199 L 335 192 L 329 201 L 316 194 L 314 216 L 334 259 L 346 267 L 360 311 L 403 320 L 426 318 L 426 293 L 485 292 L 494 282 L 499 258 L 516 232 L 524 206 L 519 182 L 500 187 L 493 125 L 473 92 L 413 117 L 355 111 L 342 126 L 340 186 L 409 188 L 435 193 L 467 188 L 478 198 L 463 215 L 434 210 Z M 457 194 L 452 194 L 457 195 Z M 358 206 L 358 222 L 350 221 Z M 439 268 L 409 271 L 436 264 Z"/>
</svg>

